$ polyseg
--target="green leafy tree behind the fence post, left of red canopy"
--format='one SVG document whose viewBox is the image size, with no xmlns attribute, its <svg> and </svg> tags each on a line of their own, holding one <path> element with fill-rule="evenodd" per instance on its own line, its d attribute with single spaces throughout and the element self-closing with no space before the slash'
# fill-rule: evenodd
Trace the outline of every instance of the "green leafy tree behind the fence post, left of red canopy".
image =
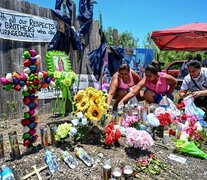
<svg viewBox="0 0 207 180">
<path fill-rule="evenodd" d="M 106 41 L 108 46 L 113 46 L 113 29 L 112 27 L 108 27 L 104 33 L 106 36 Z M 121 47 L 128 47 L 128 48 L 136 48 L 139 39 L 134 37 L 131 32 L 125 31 L 123 33 L 118 34 L 118 42 L 119 46 Z"/>
</svg>

